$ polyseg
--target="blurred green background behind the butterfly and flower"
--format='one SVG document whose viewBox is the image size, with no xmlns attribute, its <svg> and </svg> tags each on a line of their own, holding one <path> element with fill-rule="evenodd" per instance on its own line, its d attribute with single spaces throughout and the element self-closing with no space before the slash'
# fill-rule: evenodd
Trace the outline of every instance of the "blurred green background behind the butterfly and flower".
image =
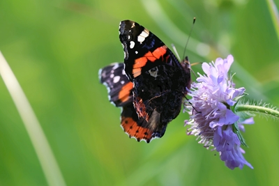
<svg viewBox="0 0 279 186">
<path fill-rule="evenodd" d="M 0 50 L 67 185 L 278 185 L 278 121 L 256 116 L 255 125 L 246 126 L 244 156 L 254 169 L 232 171 L 216 151 L 186 135 L 187 114 L 151 144 L 129 139 L 119 126 L 120 109 L 98 82 L 99 68 L 123 61 L 121 20 L 139 22 L 182 56 L 196 17 L 190 61 L 232 54 L 236 86 L 252 100 L 279 106 L 279 42 L 271 14 L 260 0 L 0 1 Z M 0 90 L 0 185 L 47 185 L 3 81 Z"/>
</svg>

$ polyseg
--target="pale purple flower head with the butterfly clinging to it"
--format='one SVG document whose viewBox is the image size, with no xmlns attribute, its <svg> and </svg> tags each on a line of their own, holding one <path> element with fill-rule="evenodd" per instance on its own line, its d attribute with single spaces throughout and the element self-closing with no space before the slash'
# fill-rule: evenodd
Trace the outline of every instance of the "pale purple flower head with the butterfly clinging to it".
<svg viewBox="0 0 279 186">
<path fill-rule="evenodd" d="M 229 55 L 227 59 L 218 58 L 215 63 L 202 64 L 206 75 L 199 74 L 197 83 L 192 84 L 191 105 L 187 107 L 190 120 L 185 124 L 190 125 L 187 134 L 197 136 L 206 148 L 214 146 L 229 169 L 242 169 L 244 164 L 252 168 L 243 157 L 241 141 L 232 125 L 244 131 L 243 124 L 254 123 L 252 118 L 241 122 L 240 116 L 231 110 L 245 91 L 243 87 L 234 88 L 232 77 L 228 76 L 233 61 L 233 56 Z"/>
</svg>

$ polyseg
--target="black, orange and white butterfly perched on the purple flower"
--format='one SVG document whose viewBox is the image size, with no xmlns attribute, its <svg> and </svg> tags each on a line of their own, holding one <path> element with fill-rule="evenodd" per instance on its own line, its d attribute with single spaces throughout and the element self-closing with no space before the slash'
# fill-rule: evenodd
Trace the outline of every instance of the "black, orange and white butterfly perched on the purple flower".
<svg viewBox="0 0 279 186">
<path fill-rule="evenodd" d="M 167 123 L 179 115 L 190 89 L 187 57 L 179 63 L 171 50 L 137 22 L 120 22 L 124 63 L 99 70 L 109 99 L 121 111 L 121 127 L 137 141 L 163 137 Z"/>
</svg>

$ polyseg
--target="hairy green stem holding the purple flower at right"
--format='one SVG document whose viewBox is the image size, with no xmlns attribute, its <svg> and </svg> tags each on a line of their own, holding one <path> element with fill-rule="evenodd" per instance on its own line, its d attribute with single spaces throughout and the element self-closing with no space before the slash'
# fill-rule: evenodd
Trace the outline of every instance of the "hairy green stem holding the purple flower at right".
<svg viewBox="0 0 279 186">
<path fill-rule="evenodd" d="M 276 108 L 268 108 L 259 105 L 250 105 L 250 104 L 238 104 L 235 107 L 236 112 L 249 112 L 255 114 L 264 114 L 266 116 L 271 116 L 275 118 L 279 118 L 279 111 Z"/>
</svg>

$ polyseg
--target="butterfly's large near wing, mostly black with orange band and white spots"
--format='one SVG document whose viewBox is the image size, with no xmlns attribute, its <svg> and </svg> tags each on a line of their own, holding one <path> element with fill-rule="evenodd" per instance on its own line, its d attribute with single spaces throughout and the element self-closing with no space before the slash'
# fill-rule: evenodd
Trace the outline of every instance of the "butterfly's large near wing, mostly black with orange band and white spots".
<svg viewBox="0 0 279 186">
<path fill-rule="evenodd" d="M 190 88 L 190 70 L 184 68 L 170 49 L 151 31 L 125 20 L 119 26 L 124 50 L 125 72 L 134 84 L 133 104 L 147 127 L 161 131 L 181 110 Z"/>
</svg>

